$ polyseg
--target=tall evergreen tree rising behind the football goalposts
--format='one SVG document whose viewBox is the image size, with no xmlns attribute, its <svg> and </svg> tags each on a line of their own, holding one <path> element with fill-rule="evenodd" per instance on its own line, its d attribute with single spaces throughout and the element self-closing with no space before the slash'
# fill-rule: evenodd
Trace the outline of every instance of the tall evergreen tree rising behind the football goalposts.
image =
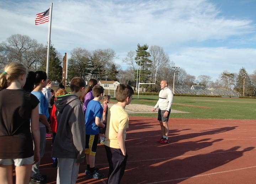
<svg viewBox="0 0 256 184">
<path fill-rule="evenodd" d="M 140 82 L 149 82 L 151 71 L 150 67 L 152 65 L 152 61 L 149 59 L 150 53 L 148 50 L 148 45 L 144 44 L 143 46 L 137 45 L 137 55 L 135 57 L 135 60 L 137 61 L 137 64 L 140 65 L 140 57 L 141 57 L 141 69 L 140 69 L 140 80 L 138 78 L 138 81 Z M 137 71 L 135 72 L 137 75 Z M 135 76 L 136 78 L 137 76 Z M 139 74 L 138 74 L 139 77 Z"/>
</svg>

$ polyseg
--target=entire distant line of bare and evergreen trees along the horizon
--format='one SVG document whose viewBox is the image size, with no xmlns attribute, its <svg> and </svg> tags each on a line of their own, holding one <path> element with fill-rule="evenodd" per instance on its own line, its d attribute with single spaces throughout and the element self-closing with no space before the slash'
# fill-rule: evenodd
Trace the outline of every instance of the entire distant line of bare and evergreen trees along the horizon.
<svg viewBox="0 0 256 184">
<path fill-rule="evenodd" d="M 9 62 L 20 62 L 28 70 L 46 70 L 47 48 L 29 36 L 14 34 L 6 41 L 0 43 L 0 69 Z M 60 82 L 62 80 L 62 58 L 63 56 L 50 46 L 49 79 Z M 119 59 L 115 51 L 111 48 L 86 50 L 85 48 L 74 48 L 68 59 L 68 80 L 75 76 L 80 76 L 85 80 L 94 78 L 97 80 L 118 80 L 136 87 L 137 70 L 138 81 L 144 83 L 154 83 L 156 85 L 142 85 L 148 92 L 160 90 L 159 83 L 162 79 L 173 84 L 174 70 L 178 67 L 170 60 L 168 54 L 160 46 L 147 44 L 137 44 L 134 51 L 127 52 L 127 56 L 122 58 L 122 62 L 128 65 L 122 69 L 121 65 L 114 60 Z M 140 71 L 140 75 L 139 75 Z M 202 85 L 209 88 L 223 88 L 236 90 L 243 94 L 245 86 L 245 96 L 255 96 L 256 90 L 256 70 L 249 75 L 244 67 L 238 74 L 229 73 L 224 70 L 219 78 L 213 82 L 208 75 L 198 77 L 190 75 L 185 69 L 179 68 L 175 73 L 175 86 Z"/>
</svg>

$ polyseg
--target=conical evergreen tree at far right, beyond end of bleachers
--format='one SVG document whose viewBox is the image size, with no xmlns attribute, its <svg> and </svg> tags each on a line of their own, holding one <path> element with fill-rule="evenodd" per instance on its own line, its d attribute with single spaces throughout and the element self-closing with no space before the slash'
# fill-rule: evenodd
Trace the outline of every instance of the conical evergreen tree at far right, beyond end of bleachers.
<svg viewBox="0 0 256 184">
<path fill-rule="evenodd" d="M 254 87 L 251 84 L 250 77 L 245 70 L 244 67 L 242 67 L 239 70 L 239 74 L 236 79 L 236 86 L 234 90 L 238 91 L 239 93 L 243 94 L 244 91 L 244 86 L 245 86 L 245 96 L 251 96 L 254 94 Z"/>
</svg>

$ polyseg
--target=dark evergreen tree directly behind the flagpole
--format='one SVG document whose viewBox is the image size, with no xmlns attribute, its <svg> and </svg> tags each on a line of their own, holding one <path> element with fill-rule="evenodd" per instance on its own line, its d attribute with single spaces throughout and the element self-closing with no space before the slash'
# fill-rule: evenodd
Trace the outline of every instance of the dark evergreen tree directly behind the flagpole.
<svg viewBox="0 0 256 184">
<path fill-rule="evenodd" d="M 46 59 L 47 58 L 45 57 L 39 67 L 39 70 L 46 71 Z M 58 52 L 53 45 L 50 45 L 49 76 L 47 77 L 52 81 L 62 81 L 62 61 L 60 61 Z"/>
</svg>

